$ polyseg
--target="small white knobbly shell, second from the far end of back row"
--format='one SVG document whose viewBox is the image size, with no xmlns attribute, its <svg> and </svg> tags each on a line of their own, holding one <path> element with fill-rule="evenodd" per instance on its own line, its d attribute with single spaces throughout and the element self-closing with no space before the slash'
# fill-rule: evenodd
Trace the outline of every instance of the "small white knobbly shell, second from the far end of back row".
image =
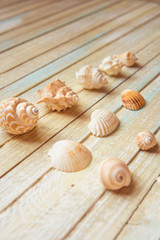
<svg viewBox="0 0 160 240">
<path fill-rule="evenodd" d="M 102 63 L 99 65 L 100 70 L 110 76 L 118 75 L 121 72 L 122 67 L 123 64 L 118 59 L 113 60 L 111 57 L 104 58 Z"/>
</svg>

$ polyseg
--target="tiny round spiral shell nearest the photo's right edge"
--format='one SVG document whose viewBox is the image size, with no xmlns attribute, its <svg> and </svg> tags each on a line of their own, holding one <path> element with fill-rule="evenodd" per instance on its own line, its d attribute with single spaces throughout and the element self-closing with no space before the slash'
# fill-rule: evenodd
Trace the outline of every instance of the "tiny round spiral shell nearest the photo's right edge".
<svg viewBox="0 0 160 240">
<path fill-rule="evenodd" d="M 136 142 L 142 150 L 149 150 L 157 144 L 155 136 L 150 131 L 140 132 L 136 137 Z"/>
</svg>

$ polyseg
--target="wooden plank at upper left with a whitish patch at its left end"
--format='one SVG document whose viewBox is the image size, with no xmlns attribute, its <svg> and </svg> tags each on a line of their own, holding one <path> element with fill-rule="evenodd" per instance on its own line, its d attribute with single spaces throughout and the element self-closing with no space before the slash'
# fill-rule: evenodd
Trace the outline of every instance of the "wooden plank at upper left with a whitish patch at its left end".
<svg viewBox="0 0 160 240">
<path fill-rule="evenodd" d="M 20 28 L 27 24 L 30 24 L 29 26 L 31 28 L 32 27 L 31 24 L 35 23 L 36 21 L 38 21 L 39 23 L 41 19 L 44 20 L 45 18 L 48 18 L 48 17 L 50 18 L 50 16 L 54 14 L 62 12 L 71 7 L 73 8 L 78 4 L 77 2 L 80 5 L 84 3 L 83 0 L 81 2 L 79 2 L 78 0 L 75 0 L 75 1 L 68 0 L 67 2 L 65 1 L 65 3 L 64 1 L 53 2 L 53 3 L 51 2 L 48 5 L 31 10 L 27 12 L 27 14 L 19 14 L 14 17 L 0 21 L 0 34 L 6 33 L 11 30 L 15 30 L 17 27 Z M 11 35 L 9 34 L 7 34 L 7 37 L 8 38 L 6 38 L 6 41 L 8 41 L 8 39 L 12 39 Z M 3 35 L 3 38 L 4 38 L 4 35 Z M 2 36 L 1 36 L 1 40 L 2 40 Z"/>
</svg>

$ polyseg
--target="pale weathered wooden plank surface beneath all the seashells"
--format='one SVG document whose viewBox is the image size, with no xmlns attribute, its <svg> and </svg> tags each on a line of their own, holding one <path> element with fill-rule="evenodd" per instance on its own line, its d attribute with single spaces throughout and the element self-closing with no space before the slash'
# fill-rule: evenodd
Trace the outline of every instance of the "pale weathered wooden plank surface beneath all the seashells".
<svg viewBox="0 0 160 240">
<path fill-rule="evenodd" d="M 138 63 L 108 77 L 101 90 L 84 90 L 75 71 L 123 51 Z M 160 239 L 159 145 L 138 149 L 135 137 L 151 130 L 160 142 L 159 1 L 1 0 L 0 101 L 19 96 L 34 104 L 38 89 L 60 78 L 78 93 L 79 104 L 65 112 L 38 105 L 37 127 L 22 136 L 0 130 L 0 239 Z M 120 94 L 135 89 L 146 99 L 139 111 L 122 107 Z M 111 136 L 89 133 L 91 113 L 117 113 Z M 80 172 L 63 173 L 47 154 L 62 139 L 82 142 L 93 154 Z M 98 178 L 100 163 L 118 157 L 133 175 L 130 187 L 107 191 Z"/>
</svg>

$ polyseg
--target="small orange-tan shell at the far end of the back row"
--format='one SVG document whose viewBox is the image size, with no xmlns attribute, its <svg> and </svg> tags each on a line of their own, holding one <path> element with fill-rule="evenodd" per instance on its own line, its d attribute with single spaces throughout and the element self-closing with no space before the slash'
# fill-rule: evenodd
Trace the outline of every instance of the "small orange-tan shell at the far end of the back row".
<svg viewBox="0 0 160 240">
<path fill-rule="evenodd" d="M 131 67 L 138 60 L 136 55 L 131 52 L 125 52 L 119 55 L 115 55 L 113 59 L 119 59 L 125 66 Z"/>
</svg>

